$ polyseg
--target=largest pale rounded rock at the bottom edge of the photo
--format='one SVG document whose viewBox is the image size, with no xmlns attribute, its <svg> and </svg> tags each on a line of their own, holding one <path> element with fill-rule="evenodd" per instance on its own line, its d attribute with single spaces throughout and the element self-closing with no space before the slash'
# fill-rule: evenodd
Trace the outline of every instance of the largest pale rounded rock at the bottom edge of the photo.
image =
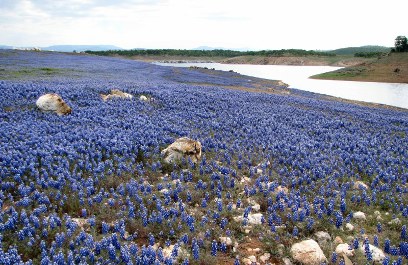
<svg viewBox="0 0 408 265">
<path fill-rule="evenodd" d="M 326 256 L 316 241 L 310 239 L 296 243 L 290 249 L 293 259 L 305 265 L 320 265 Z"/>
</svg>

